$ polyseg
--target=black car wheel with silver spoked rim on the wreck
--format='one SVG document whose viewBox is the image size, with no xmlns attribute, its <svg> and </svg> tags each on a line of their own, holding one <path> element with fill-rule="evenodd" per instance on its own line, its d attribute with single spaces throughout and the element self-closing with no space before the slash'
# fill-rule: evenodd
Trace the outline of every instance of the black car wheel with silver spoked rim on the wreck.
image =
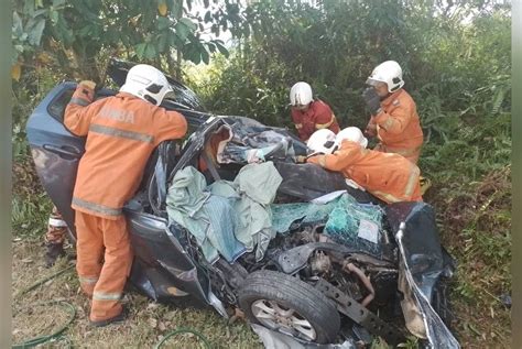
<svg viewBox="0 0 522 349">
<path fill-rule="evenodd" d="M 280 272 L 251 273 L 239 290 L 239 305 L 251 321 L 306 341 L 333 342 L 340 328 L 331 301 Z"/>
</svg>

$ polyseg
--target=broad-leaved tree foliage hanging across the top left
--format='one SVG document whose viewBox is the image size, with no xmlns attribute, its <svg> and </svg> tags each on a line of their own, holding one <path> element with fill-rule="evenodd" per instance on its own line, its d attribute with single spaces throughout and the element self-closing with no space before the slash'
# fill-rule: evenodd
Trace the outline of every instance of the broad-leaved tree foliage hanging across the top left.
<svg viewBox="0 0 522 349">
<path fill-rule="evenodd" d="M 209 62 L 209 54 L 228 54 L 220 40 L 203 40 L 204 23 L 213 30 L 237 25 L 237 4 L 191 15 L 192 0 L 24 0 L 14 3 L 13 78 L 21 66 L 53 66 L 69 77 L 104 81 L 108 57 L 167 66 L 180 76 L 182 58 Z"/>
</svg>

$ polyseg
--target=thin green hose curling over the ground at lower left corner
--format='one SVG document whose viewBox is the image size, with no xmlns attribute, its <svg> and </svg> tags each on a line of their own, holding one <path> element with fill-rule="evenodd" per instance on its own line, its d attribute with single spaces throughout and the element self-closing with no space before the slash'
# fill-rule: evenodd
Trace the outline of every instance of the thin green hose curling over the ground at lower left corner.
<svg viewBox="0 0 522 349">
<path fill-rule="evenodd" d="M 56 273 L 47 276 L 47 277 L 44 277 L 37 282 L 35 282 L 34 284 L 32 284 L 31 286 L 29 286 L 28 288 L 19 292 L 18 294 L 15 294 L 13 296 L 13 299 L 15 299 L 17 297 L 20 297 L 21 295 L 24 295 L 26 294 L 28 292 L 30 291 L 33 291 L 34 288 L 36 288 L 37 286 L 46 283 L 47 281 L 50 280 L 53 280 L 54 277 L 57 277 L 59 275 L 62 275 L 63 273 L 65 273 L 66 271 L 73 269 L 75 265 L 69 265 L 61 271 L 57 271 Z M 54 339 L 54 338 L 64 338 L 67 340 L 67 342 L 69 342 L 69 347 L 70 347 L 70 341 L 66 338 L 66 337 L 62 337 L 62 332 L 74 321 L 75 317 L 76 317 L 76 308 L 74 307 L 74 305 L 72 305 L 70 303 L 68 302 L 65 302 L 65 301 L 51 301 L 51 302 L 45 302 L 45 303 L 37 303 L 37 304 L 32 304 L 32 305 L 29 305 L 24 308 L 21 308 L 19 312 L 17 313 L 20 313 L 22 312 L 23 309 L 25 308 L 29 308 L 29 307 L 35 307 L 35 306 L 44 306 L 44 305 L 62 305 L 62 306 L 65 306 L 68 312 L 69 312 L 69 318 L 67 319 L 67 321 L 62 326 L 59 327 L 57 330 L 55 330 L 54 332 L 52 332 L 51 335 L 44 335 L 44 336 L 39 336 L 39 337 L 34 337 L 32 339 L 29 339 L 26 341 L 23 341 L 21 343 L 17 343 L 17 345 L 13 345 L 12 348 L 13 349 L 24 349 L 24 348 L 31 348 L 31 347 L 35 347 L 37 345 L 41 345 L 41 343 L 44 343 L 51 339 Z"/>
</svg>

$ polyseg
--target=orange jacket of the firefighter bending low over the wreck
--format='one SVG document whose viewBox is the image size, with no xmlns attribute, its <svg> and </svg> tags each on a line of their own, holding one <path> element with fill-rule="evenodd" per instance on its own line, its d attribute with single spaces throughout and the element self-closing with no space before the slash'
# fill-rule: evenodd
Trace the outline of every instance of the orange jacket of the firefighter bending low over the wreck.
<svg viewBox="0 0 522 349">
<path fill-rule="evenodd" d="M 420 170 L 401 155 L 363 149 L 345 140 L 334 154 L 313 156 L 307 162 L 342 173 L 388 204 L 422 201 Z"/>
</svg>

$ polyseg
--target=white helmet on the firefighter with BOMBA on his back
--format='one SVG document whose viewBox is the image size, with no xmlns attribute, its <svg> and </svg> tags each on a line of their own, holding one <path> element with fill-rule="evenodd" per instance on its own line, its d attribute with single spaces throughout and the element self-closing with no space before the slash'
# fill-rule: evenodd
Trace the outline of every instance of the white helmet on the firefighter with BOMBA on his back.
<svg viewBox="0 0 522 349">
<path fill-rule="evenodd" d="M 165 75 L 148 64 L 138 64 L 129 69 L 121 92 L 129 92 L 155 106 L 160 106 L 165 95 L 172 91 Z"/>
</svg>

